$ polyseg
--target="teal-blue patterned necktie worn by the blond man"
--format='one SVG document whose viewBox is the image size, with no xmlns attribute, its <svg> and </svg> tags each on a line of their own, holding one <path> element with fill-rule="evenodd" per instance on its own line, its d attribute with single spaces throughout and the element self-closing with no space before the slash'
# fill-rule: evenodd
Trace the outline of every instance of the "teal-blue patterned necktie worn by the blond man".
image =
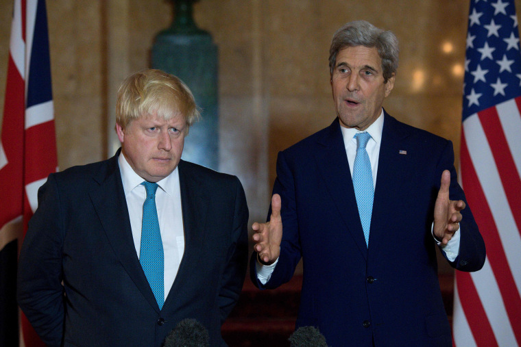
<svg viewBox="0 0 521 347">
<path fill-rule="evenodd" d="M 158 210 L 156 208 L 157 183 L 143 182 L 147 190 L 147 198 L 143 203 L 143 225 L 141 227 L 141 250 L 139 252 L 139 262 L 145 272 L 148 283 L 152 287 L 152 292 L 156 296 L 159 309 L 165 302 L 165 255 L 159 231 Z"/>
</svg>

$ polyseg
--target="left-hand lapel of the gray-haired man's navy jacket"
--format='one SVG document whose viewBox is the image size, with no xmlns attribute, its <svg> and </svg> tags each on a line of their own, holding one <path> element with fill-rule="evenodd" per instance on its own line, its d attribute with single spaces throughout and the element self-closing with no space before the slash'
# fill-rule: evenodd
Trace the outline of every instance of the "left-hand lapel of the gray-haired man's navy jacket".
<svg viewBox="0 0 521 347">
<path fill-rule="evenodd" d="M 319 146 L 317 146 L 315 160 L 318 170 L 322 179 L 324 179 L 332 201 L 337 206 L 339 214 L 346 224 L 348 232 L 364 259 L 367 259 L 367 245 L 356 206 L 348 155 L 343 144 L 338 118 L 324 131 L 324 136 L 317 142 Z"/>
</svg>

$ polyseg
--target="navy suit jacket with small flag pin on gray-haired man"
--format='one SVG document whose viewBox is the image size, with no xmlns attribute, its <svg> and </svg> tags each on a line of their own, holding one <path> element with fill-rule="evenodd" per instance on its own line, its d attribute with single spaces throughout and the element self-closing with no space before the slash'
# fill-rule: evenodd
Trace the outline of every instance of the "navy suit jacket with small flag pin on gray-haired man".
<svg viewBox="0 0 521 347">
<path fill-rule="evenodd" d="M 452 346 L 431 234 L 443 170 L 451 174 L 450 199 L 465 201 L 452 143 L 384 117 L 369 247 L 337 119 L 279 153 L 274 193 L 282 198 L 280 257 L 262 285 L 254 254 L 252 281 L 278 287 L 302 257 L 296 325 L 317 326 L 328 345 Z M 470 207 L 462 214 L 459 256 L 450 264 L 479 270 L 485 244 Z"/>
</svg>

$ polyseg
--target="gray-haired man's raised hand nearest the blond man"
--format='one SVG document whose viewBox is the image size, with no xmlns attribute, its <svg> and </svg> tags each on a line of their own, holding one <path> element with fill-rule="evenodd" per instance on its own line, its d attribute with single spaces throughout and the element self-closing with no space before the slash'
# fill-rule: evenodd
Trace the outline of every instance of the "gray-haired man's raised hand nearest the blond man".
<svg viewBox="0 0 521 347">
<path fill-rule="evenodd" d="M 273 264 L 280 255 L 280 242 L 282 241 L 282 218 L 280 217 L 280 195 L 271 196 L 271 217 L 269 222 L 254 222 L 252 229 L 254 250 L 258 253 L 258 259 L 265 264 Z"/>
</svg>

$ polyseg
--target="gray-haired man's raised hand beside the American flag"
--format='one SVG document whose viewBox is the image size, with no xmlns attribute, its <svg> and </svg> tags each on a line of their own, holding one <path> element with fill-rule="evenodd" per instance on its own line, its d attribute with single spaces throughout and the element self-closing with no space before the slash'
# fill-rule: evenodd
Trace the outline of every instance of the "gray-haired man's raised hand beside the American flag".
<svg viewBox="0 0 521 347">
<path fill-rule="evenodd" d="M 449 186 L 450 172 L 445 170 L 441 174 L 441 186 L 434 206 L 433 233 L 437 240 L 441 240 L 441 244 L 447 244 L 452 235 L 459 229 L 459 222 L 463 218 L 460 212 L 465 208 L 463 200 L 449 200 Z"/>
</svg>

